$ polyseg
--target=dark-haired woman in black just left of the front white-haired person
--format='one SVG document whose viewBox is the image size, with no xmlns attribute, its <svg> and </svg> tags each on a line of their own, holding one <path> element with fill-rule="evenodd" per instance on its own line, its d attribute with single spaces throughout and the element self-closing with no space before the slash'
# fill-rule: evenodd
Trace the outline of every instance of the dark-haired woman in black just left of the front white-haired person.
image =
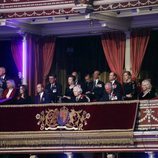
<svg viewBox="0 0 158 158">
<path fill-rule="evenodd" d="M 75 87 L 75 77 L 69 76 L 67 82 L 68 82 L 68 85 L 65 89 L 65 95 L 62 98 L 62 102 L 69 103 L 69 102 L 72 102 L 74 98 L 73 88 Z"/>
</svg>

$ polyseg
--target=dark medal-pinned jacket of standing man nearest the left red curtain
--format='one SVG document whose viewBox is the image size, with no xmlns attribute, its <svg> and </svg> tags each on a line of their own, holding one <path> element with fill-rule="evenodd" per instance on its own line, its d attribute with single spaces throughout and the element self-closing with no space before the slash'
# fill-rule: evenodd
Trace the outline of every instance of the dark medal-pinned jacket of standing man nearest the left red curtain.
<svg viewBox="0 0 158 158">
<path fill-rule="evenodd" d="M 51 84 L 49 83 L 45 89 L 46 92 L 50 95 L 51 101 L 57 103 L 59 96 L 62 96 L 62 86 L 59 83 L 56 83 L 51 87 Z"/>
</svg>

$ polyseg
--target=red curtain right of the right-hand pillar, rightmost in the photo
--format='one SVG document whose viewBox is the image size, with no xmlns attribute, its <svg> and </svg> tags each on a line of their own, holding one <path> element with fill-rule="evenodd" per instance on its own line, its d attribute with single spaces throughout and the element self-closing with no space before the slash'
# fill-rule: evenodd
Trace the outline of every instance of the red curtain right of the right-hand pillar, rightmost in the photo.
<svg viewBox="0 0 158 158">
<path fill-rule="evenodd" d="M 130 55 L 132 65 L 132 77 L 136 79 L 141 68 L 145 51 L 149 42 L 149 30 L 134 30 L 130 37 Z"/>
</svg>

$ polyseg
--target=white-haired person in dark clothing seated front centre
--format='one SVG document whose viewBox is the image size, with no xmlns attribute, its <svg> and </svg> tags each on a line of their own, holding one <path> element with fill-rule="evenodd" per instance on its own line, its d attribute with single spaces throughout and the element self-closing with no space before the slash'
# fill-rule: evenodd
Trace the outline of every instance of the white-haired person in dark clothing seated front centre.
<svg viewBox="0 0 158 158">
<path fill-rule="evenodd" d="M 82 94 L 82 88 L 80 85 L 76 85 L 74 88 L 73 88 L 73 93 L 74 93 L 74 99 L 73 99 L 73 102 L 78 102 L 78 103 L 81 103 L 81 102 L 90 102 L 90 99 Z"/>
</svg>

